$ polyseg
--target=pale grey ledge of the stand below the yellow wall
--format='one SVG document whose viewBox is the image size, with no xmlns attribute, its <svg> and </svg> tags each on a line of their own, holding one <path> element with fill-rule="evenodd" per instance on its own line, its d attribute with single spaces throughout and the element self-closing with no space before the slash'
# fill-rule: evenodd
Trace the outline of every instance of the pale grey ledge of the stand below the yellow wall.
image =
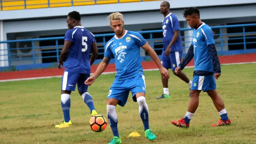
<svg viewBox="0 0 256 144">
<path fill-rule="evenodd" d="M 215 7 L 227 5 L 242 5 L 255 4 L 255 0 L 214 0 L 202 1 L 194 0 L 167 0 L 170 3 L 171 9 L 181 9 L 185 7 Z M 187 1 L 187 2 L 186 2 Z M 26 9 L 26 10 L 12 10 L 1 11 L 0 20 L 17 20 L 17 19 L 42 19 L 49 17 L 63 17 L 70 11 L 78 11 L 81 15 L 95 15 L 100 13 L 114 12 L 134 12 L 134 11 L 148 11 L 157 10 L 160 8 L 162 1 L 148 1 L 148 2 L 134 2 L 134 3 L 118 3 L 118 4 L 99 4 L 99 5 L 85 5 L 85 6 L 70 6 L 70 7 L 56 7 L 56 8 L 42 8 L 42 9 Z"/>
</svg>

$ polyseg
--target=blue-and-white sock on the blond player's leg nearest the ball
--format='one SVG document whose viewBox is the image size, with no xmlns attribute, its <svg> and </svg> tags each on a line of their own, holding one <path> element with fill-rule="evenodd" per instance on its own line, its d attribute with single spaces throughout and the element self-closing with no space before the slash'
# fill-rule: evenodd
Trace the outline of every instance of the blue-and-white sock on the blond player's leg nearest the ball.
<svg viewBox="0 0 256 144">
<path fill-rule="evenodd" d="M 107 105 L 107 116 L 108 116 L 108 122 L 112 129 L 114 137 L 119 137 L 119 133 L 117 129 L 116 106 Z"/>
</svg>

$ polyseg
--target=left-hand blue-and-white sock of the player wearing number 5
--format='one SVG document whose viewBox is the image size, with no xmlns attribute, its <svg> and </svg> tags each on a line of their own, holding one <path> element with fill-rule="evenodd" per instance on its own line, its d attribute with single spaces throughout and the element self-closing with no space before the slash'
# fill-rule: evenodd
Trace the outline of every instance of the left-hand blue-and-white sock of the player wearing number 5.
<svg viewBox="0 0 256 144">
<path fill-rule="evenodd" d="M 61 94 L 61 107 L 64 114 L 64 121 L 68 123 L 70 121 L 70 95 L 69 94 Z"/>
</svg>

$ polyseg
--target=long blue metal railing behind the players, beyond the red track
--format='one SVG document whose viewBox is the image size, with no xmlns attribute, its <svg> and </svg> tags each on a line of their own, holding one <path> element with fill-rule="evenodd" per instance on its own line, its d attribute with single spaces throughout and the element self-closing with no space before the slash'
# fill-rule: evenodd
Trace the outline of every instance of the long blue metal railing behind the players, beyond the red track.
<svg viewBox="0 0 256 144">
<path fill-rule="evenodd" d="M 214 26 L 211 27 L 213 32 L 217 32 L 214 34 L 215 37 L 215 45 L 220 55 L 232 55 L 232 54 L 242 54 L 242 53 L 255 53 L 256 52 L 256 31 L 250 31 L 246 28 L 254 27 L 256 24 L 243 24 L 243 25 L 227 25 L 227 26 Z M 228 28 L 236 28 L 237 32 L 235 33 L 227 33 Z M 239 31 L 240 29 L 240 31 Z M 252 28 L 253 29 L 253 28 Z M 191 28 L 181 28 L 182 31 L 192 30 Z M 140 34 L 151 45 L 152 48 L 158 53 L 159 58 L 161 59 L 163 38 L 154 38 L 156 33 L 162 34 L 162 30 L 150 30 L 150 31 L 139 31 Z M 190 31 L 191 34 L 191 31 Z M 98 42 L 99 56 L 103 57 L 104 47 L 107 43 L 106 38 L 109 36 L 114 36 L 114 33 L 111 34 L 98 34 L 95 35 L 96 39 L 102 38 L 102 42 Z M 147 38 L 148 37 L 148 38 Z M 187 52 L 191 44 L 192 36 L 182 36 L 182 44 L 183 44 L 183 57 Z M 2 66 L 19 66 L 19 65 L 40 65 L 44 64 L 44 60 L 52 59 L 53 62 L 58 62 L 59 53 L 61 52 L 62 46 L 58 44 L 58 40 L 63 40 L 64 37 L 49 37 L 49 38 L 35 38 L 35 39 L 24 39 L 24 40 L 8 40 L 8 41 L 0 41 L 0 63 Z M 39 46 L 37 44 L 38 41 L 47 41 L 47 40 L 55 40 L 55 45 L 52 46 Z M 15 48 L 13 44 L 20 42 L 31 42 L 30 47 L 26 48 Z M 27 43 L 29 45 L 29 43 Z M 0 48 L 1 48 L 0 47 Z M 4 49 L 3 49 L 4 48 Z M 24 52 L 23 50 L 28 50 Z M 22 52 L 23 51 L 23 52 Z M 52 54 L 52 56 L 42 56 L 44 54 Z M 54 54 L 53 54 L 54 53 Z M 148 56 L 145 55 L 145 51 L 141 49 L 141 60 L 148 60 Z M 100 60 L 98 60 L 99 62 Z M 96 64 L 98 63 L 96 60 Z M 47 63 L 49 64 L 49 63 Z"/>
</svg>

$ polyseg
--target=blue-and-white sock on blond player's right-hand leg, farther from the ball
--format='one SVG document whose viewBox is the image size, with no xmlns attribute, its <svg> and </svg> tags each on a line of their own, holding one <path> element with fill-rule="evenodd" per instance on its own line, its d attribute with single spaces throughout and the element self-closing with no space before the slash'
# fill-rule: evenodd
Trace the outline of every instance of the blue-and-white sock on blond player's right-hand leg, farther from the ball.
<svg viewBox="0 0 256 144">
<path fill-rule="evenodd" d="M 139 114 L 140 118 L 143 122 L 144 125 L 144 131 L 149 129 L 149 124 L 148 124 L 148 105 L 146 103 L 146 98 L 145 97 L 139 97 L 137 99 L 137 102 L 139 104 Z"/>
</svg>

